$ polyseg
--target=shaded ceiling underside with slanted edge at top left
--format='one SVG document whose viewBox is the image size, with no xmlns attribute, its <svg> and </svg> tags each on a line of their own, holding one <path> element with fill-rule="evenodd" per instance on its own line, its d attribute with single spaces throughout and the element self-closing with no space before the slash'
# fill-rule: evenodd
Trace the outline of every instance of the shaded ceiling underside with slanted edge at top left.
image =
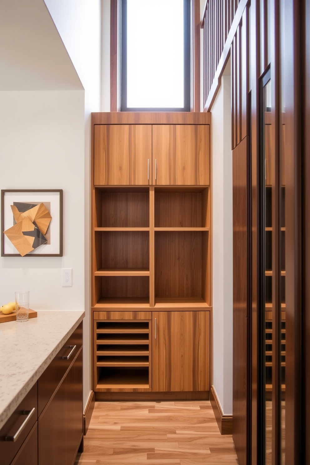
<svg viewBox="0 0 310 465">
<path fill-rule="evenodd" d="M 0 0 L 0 91 L 82 90 L 43 0 Z"/>
</svg>

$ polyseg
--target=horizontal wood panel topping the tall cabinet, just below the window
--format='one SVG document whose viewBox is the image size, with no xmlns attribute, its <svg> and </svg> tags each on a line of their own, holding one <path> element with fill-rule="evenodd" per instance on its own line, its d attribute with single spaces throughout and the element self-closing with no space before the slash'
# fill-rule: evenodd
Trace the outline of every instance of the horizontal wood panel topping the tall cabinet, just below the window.
<svg viewBox="0 0 310 465">
<path fill-rule="evenodd" d="M 92 113 L 92 124 L 211 124 L 211 113 L 110 112 Z"/>
</svg>

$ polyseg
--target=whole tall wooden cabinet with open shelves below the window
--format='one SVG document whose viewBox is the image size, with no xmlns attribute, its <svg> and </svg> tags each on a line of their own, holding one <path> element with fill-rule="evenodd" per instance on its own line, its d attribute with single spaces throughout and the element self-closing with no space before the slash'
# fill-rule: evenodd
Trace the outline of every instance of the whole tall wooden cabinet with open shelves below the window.
<svg viewBox="0 0 310 465">
<path fill-rule="evenodd" d="M 95 392 L 210 390 L 210 122 L 205 113 L 92 115 Z M 184 352 L 169 352 L 181 330 Z M 175 376 L 163 376 L 172 365 Z"/>
</svg>

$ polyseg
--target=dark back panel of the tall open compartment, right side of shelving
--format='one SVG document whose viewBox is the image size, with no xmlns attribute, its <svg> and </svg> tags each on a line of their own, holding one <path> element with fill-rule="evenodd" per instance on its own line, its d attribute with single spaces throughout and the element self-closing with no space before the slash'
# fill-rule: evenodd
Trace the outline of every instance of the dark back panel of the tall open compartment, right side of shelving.
<svg viewBox="0 0 310 465">
<path fill-rule="evenodd" d="M 202 296 L 201 234 L 190 231 L 155 233 L 155 302 L 157 297 Z"/>
</svg>

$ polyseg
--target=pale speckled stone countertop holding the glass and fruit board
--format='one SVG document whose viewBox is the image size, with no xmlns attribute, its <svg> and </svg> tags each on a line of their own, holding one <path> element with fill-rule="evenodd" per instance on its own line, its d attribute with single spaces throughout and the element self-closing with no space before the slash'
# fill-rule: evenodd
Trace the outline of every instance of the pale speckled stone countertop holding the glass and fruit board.
<svg viewBox="0 0 310 465">
<path fill-rule="evenodd" d="M 0 324 L 0 428 L 85 316 L 38 311 L 38 318 Z"/>
</svg>

